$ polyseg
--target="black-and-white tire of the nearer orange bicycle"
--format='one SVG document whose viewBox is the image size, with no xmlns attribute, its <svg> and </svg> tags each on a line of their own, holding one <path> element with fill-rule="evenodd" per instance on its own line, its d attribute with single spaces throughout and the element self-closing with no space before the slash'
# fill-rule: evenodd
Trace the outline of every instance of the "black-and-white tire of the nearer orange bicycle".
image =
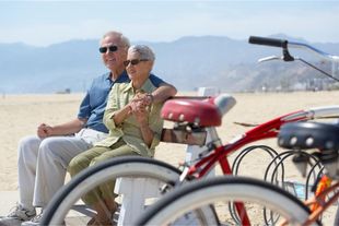
<svg viewBox="0 0 339 226">
<path fill-rule="evenodd" d="M 290 225 L 302 225 L 309 215 L 309 210 L 300 200 L 279 187 L 253 178 L 225 176 L 192 181 L 175 189 L 150 206 L 135 225 L 171 225 L 187 212 L 221 200 L 262 204 L 285 217 Z"/>
</svg>

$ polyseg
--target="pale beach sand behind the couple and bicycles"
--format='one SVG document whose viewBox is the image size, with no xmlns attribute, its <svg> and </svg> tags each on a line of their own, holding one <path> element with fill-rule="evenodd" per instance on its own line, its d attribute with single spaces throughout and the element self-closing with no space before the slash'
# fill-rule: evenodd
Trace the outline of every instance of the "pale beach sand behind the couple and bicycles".
<svg viewBox="0 0 339 226">
<path fill-rule="evenodd" d="M 187 93 L 180 93 L 180 95 L 187 95 Z M 194 94 L 190 93 L 190 95 Z M 223 117 L 223 124 L 218 128 L 219 135 L 224 143 L 249 129 L 233 123 L 235 121 L 261 123 L 299 109 L 336 105 L 339 99 L 339 92 L 236 93 L 232 95 L 237 104 Z M 57 124 L 74 118 L 82 97 L 83 94 L 0 96 L 0 191 L 2 191 L 0 193 L 17 190 L 16 145 L 19 140 L 24 135 L 34 134 L 36 127 L 42 122 Z M 257 143 L 277 147 L 276 140 Z M 185 152 L 185 145 L 161 143 L 155 158 L 177 166 L 184 159 Z M 236 153 L 233 154 L 233 158 L 235 155 Z M 265 155 L 264 152 L 256 152 L 247 157 L 241 166 L 239 174 L 262 178 L 266 163 L 269 160 L 269 157 Z M 295 178 L 300 175 L 293 166 L 288 167 L 288 173 Z M 217 174 L 220 174 L 220 170 L 217 170 Z"/>
</svg>

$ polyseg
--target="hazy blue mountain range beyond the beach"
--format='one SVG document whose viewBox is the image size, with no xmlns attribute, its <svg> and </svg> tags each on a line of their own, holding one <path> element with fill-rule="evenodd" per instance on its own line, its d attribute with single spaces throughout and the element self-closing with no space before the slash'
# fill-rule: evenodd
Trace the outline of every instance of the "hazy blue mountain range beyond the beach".
<svg viewBox="0 0 339 226">
<path fill-rule="evenodd" d="M 270 37 L 305 43 L 339 55 L 339 43 L 309 43 L 283 34 Z M 281 49 L 250 45 L 247 39 L 187 36 L 166 43 L 135 43 L 152 47 L 156 56 L 153 73 L 179 91 L 200 86 L 217 86 L 225 92 L 256 91 L 262 86 L 291 86 L 324 78 L 301 62 L 257 63 L 262 57 L 281 56 Z M 84 92 L 93 78 L 107 72 L 97 48 L 97 39 L 69 40 L 47 47 L 0 44 L 0 93 Z M 338 64 L 332 66 L 308 51 L 291 49 L 291 52 L 323 70 L 338 69 Z"/>
</svg>

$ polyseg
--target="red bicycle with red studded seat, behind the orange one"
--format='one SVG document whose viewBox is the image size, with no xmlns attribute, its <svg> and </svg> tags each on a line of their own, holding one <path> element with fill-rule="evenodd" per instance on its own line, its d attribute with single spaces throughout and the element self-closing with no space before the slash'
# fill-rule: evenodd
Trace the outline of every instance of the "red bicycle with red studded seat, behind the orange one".
<svg viewBox="0 0 339 226">
<path fill-rule="evenodd" d="M 232 175 L 227 156 L 244 145 L 264 139 L 276 138 L 280 127 L 288 122 L 338 117 L 339 115 L 339 106 L 299 110 L 259 124 L 229 143 L 222 144 L 215 127 L 221 126 L 222 116 L 234 104 L 235 99 L 227 95 L 206 99 L 174 98 L 167 100 L 163 107 L 162 117 L 165 120 L 175 122 L 173 130 L 180 134 L 182 140 L 188 138 L 200 140 L 201 134 L 204 134 L 206 131 L 211 134 L 211 142 L 206 144 L 206 151 L 200 154 L 196 163 L 185 166 L 183 170 L 178 170 L 156 159 L 124 157 L 89 168 L 66 185 L 65 189 L 52 199 L 44 212 L 43 224 L 62 223 L 69 210 L 79 202 L 81 195 L 108 179 L 124 176 L 152 178 L 161 183 L 160 187 L 165 192 L 183 181 L 202 178 L 215 164 L 221 166 L 224 175 Z M 235 205 L 239 213 L 243 209 L 242 203 L 235 203 Z M 189 218 L 204 225 L 219 224 L 213 206 L 207 205 L 194 211 L 191 215 L 194 216 Z M 246 217 L 243 217 L 241 222 L 245 224 L 247 222 Z"/>
</svg>

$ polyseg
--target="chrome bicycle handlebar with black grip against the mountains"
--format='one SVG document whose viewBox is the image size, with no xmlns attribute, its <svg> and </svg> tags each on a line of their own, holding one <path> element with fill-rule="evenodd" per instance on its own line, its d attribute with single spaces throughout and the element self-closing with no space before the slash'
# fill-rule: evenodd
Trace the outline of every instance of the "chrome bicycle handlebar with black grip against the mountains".
<svg viewBox="0 0 339 226">
<path fill-rule="evenodd" d="M 250 44 L 257 44 L 257 45 L 265 45 L 265 46 L 272 46 L 272 47 L 280 47 L 283 49 L 288 49 L 288 47 L 291 48 L 302 48 L 309 50 L 314 53 L 317 53 L 318 56 L 330 60 L 335 62 L 339 62 L 339 56 L 329 55 L 327 52 L 324 52 L 319 49 L 316 49 L 309 45 L 297 43 L 297 41 L 289 41 L 285 39 L 278 39 L 278 38 L 267 38 L 267 37 L 258 37 L 258 36 L 249 36 L 248 43 Z"/>
</svg>

